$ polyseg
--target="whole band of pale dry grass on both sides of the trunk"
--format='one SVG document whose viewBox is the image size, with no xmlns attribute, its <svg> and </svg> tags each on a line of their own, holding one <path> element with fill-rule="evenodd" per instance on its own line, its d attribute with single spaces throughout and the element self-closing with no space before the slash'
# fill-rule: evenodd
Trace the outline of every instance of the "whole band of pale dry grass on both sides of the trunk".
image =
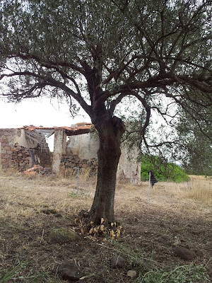
<svg viewBox="0 0 212 283">
<path fill-rule="evenodd" d="M 14 172 L 1 173 L 1 201 L 6 204 L 0 210 L 0 216 L 18 221 L 18 216 L 32 217 L 43 207 L 54 207 L 59 212 L 68 213 L 79 208 L 89 209 L 95 194 L 96 178 L 89 178 L 88 175 L 87 171 L 81 173 L 77 180 L 73 172 L 66 178 L 62 175 L 59 178 L 28 178 Z M 204 214 L 212 204 L 211 183 L 210 178 L 202 176 L 191 176 L 185 183 L 157 183 L 151 189 L 150 205 L 191 212 L 201 204 L 198 213 Z M 134 212 L 139 202 L 148 204 L 148 182 L 143 182 L 141 186 L 121 184 L 117 187 L 115 209 L 125 207 L 129 212 Z"/>
</svg>

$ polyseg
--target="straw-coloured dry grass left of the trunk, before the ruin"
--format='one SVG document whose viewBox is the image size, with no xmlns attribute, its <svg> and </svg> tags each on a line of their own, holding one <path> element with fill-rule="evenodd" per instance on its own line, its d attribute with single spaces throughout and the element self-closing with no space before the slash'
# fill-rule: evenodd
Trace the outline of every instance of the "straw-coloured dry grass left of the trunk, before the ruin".
<svg viewBox="0 0 212 283">
<path fill-rule="evenodd" d="M 86 198 L 80 198 L 80 196 L 90 194 L 87 190 L 79 187 L 79 197 L 77 197 L 75 195 L 77 185 L 65 179 L 1 177 L 2 181 L 6 185 L 4 185 L 4 191 L 1 192 L 1 200 L 6 203 L 3 213 L 4 216 L 12 218 L 15 215 L 32 216 L 43 207 L 54 207 L 59 211 L 68 210 L 68 212 L 71 207 L 71 211 L 73 211 L 73 208 L 78 208 L 78 201 L 83 202 L 83 206 L 86 205 Z M 73 204 L 71 199 L 74 199 Z"/>
</svg>

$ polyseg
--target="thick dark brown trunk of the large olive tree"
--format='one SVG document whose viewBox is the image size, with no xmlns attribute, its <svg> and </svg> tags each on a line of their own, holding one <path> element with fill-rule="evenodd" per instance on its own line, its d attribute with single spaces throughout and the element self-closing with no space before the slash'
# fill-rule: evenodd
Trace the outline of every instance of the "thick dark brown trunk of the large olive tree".
<svg viewBox="0 0 212 283">
<path fill-rule="evenodd" d="M 98 129 L 100 148 L 98 150 L 98 180 L 93 205 L 90 209 L 90 219 L 99 224 L 101 218 L 108 223 L 114 221 L 114 193 L 116 175 L 121 155 L 121 137 L 124 133 L 124 123 L 117 117 L 95 125 Z"/>
</svg>

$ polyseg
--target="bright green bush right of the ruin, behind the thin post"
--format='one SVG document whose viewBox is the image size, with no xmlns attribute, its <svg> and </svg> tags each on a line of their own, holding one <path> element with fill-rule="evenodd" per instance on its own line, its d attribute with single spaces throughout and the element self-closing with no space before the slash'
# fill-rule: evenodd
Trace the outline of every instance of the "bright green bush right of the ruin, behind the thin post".
<svg viewBox="0 0 212 283">
<path fill-rule="evenodd" d="M 169 163 L 158 156 L 143 156 L 141 158 L 141 180 L 148 180 L 150 170 L 159 181 L 184 182 L 189 180 L 189 176 L 175 163 Z"/>
</svg>

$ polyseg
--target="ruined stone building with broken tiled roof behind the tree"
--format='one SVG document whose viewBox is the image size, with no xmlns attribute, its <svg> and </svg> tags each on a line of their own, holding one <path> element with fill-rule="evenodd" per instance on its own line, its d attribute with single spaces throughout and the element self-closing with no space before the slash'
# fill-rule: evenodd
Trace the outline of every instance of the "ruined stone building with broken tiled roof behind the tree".
<svg viewBox="0 0 212 283">
<path fill-rule="evenodd" d="M 3 169 L 15 168 L 20 172 L 35 164 L 45 168 L 45 172 L 58 174 L 64 171 L 89 171 L 96 175 L 98 169 L 98 138 L 90 132 L 92 125 L 83 123 L 71 127 L 34 127 L 0 129 L 0 166 Z M 54 134 L 54 151 L 49 151 L 46 137 Z M 135 152 L 127 158 L 122 149 L 117 171 L 117 180 L 139 185 L 141 166 L 136 162 Z"/>
</svg>

